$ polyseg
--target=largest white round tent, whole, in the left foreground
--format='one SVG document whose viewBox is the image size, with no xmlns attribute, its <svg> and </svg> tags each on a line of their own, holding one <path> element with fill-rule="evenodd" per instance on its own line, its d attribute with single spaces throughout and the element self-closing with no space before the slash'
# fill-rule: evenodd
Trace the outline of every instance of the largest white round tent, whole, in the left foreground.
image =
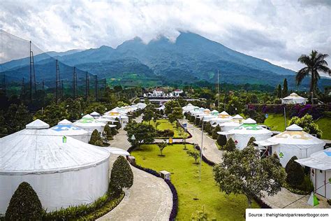
<svg viewBox="0 0 331 221">
<path fill-rule="evenodd" d="M 108 191 L 110 151 L 49 127 L 35 120 L 0 139 L 0 213 L 22 182 L 34 188 L 47 211 L 90 204 Z"/>
</svg>

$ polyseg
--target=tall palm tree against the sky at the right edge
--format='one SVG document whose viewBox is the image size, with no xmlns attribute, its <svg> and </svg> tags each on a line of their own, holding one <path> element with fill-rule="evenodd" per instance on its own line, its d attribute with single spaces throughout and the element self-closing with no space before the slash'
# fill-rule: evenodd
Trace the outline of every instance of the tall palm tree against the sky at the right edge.
<svg viewBox="0 0 331 221">
<path fill-rule="evenodd" d="M 330 74 L 330 69 L 328 68 L 328 62 L 325 61 L 325 58 L 328 57 L 327 54 L 318 53 L 317 50 L 312 50 L 310 55 L 301 55 L 297 61 L 306 65 L 304 68 L 297 71 L 297 76 L 295 76 L 295 80 L 297 85 L 300 85 L 302 80 L 311 76 L 310 82 L 310 91 L 311 92 L 311 100 L 314 97 L 314 92 L 317 90 L 318 80 L 321 78 L 318 71 L 322 71 L 324 73 Z"/>
</svg>

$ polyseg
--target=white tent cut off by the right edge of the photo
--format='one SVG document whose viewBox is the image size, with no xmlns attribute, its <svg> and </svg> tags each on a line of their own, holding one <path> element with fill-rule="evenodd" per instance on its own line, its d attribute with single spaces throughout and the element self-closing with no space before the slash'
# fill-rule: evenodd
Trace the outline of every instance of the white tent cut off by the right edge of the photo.
<svg viewBox="0 0 331 221">
<path fill-rule="evenodd" d="M 311 168 L 310 178 L 314 190 L 326 199 L 331 199 L 331 148 L 314 152 L 310 157 L 296 162 Z"/>
</svg>

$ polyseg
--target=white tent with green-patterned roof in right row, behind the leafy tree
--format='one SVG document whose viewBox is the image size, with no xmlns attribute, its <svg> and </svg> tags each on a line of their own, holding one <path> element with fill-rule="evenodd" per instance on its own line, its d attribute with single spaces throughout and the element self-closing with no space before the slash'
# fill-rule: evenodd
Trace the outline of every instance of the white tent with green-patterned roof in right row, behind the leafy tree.
<svg viewBox="0 0 331 221">
<path fill-rule="evenodd" d="M 254 137 L 256 141 L 263 141 L 272 136 L 272 132 L 270 130 L 256 124 L 256 121 L 251 118 L 244 120 L 243 124 L 235 129 L 217 132 L 217 134 L 226 135 L 227 138 L 233 138 L 233 141 L 236 143 L 236 147 L 240 150 L 246 148 L 251 137 Z"/>
</svg>

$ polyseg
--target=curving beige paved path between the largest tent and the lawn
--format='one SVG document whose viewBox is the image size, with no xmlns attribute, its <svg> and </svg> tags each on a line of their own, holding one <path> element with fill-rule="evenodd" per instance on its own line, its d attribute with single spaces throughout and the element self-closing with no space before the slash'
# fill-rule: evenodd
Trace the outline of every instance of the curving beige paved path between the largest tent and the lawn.
<svg viewBox="0 0 331 221">
<path fill-rule="evenodd" d="M 128 150 L 131 145 L 127 141 L 126 131 L 119 129 L 119 134 L 110 141 L 110 145 Z M 111 167 L 116 157 L 111 157 Z M 172 193 L 168 185 L 161 178 L 133 166 L 131 168 L 133 186 L 124 191 L 125 197 L 116 208 L 98 220 L 169 220 Z"/>
</svg>

